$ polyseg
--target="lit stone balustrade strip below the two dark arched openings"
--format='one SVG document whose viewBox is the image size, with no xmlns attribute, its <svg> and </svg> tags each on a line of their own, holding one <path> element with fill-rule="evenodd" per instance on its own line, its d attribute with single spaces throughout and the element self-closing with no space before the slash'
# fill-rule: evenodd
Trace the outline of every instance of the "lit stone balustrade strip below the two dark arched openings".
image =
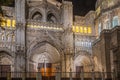
<svg viewBox="0 0 120 80">
<path fill-rule="evenodd" d="M 58 23 L 40 22 L 39 20 L 27 20 L 27 28 L 35 30 L 63 31 L 63 25 Z"/>
</svg>

